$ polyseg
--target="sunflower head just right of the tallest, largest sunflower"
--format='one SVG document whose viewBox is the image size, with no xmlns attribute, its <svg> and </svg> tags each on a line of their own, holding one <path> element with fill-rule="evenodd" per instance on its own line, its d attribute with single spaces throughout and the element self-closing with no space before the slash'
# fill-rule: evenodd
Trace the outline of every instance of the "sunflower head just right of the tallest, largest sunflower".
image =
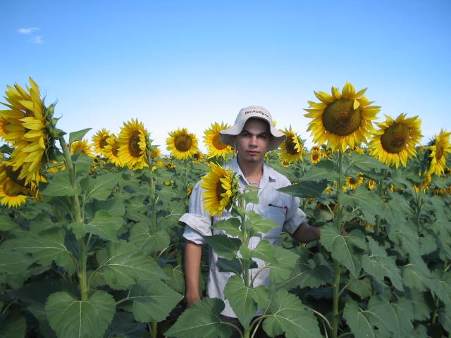
<svg viewBox="0 0 451 338">
<path fill-rule="evenodd" d="M 407 166 L 407 159 L 416 156 L 415 146 L 423 137 L 418 116 L 405 117 L 406 114 L 401 113 L 393 120 L 385 115 L 387 120 L 376 123 L 381 129 L 374 132 L 369 144 L 372 156 L 387 165 L 395 165 L 396 168 L 399 168 L 400 163 Z"/>
</svg>

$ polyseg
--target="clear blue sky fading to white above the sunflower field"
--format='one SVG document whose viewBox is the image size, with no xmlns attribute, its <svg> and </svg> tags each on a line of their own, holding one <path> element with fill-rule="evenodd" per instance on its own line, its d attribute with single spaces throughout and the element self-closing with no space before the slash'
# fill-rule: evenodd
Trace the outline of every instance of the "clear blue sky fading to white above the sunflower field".
<svg viewBox="0 0 451 338">
<path fill-rule="evenodd" d="M 187 127 L 244 106 L 307 145 L 307 101 L 346 81 L 379 120 L 419 115 L 423 143 L 451 131 L 451 1 L 1 1 L 0 86 L 39 84 L 67 133 L 137 118 L 166 151 Z M 1 101 L 4 101 L 3 99 Z"/>
</svg>

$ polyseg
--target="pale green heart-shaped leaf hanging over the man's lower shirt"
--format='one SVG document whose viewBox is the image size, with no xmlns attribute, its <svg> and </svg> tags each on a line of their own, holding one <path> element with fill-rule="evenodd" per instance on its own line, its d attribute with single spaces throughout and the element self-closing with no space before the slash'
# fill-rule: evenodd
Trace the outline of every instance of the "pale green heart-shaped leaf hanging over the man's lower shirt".
<svg viewBox="0 0 451 338">
<path fill-rule="evenodd" d="M 252 318 L 257 314 L 257 294 L 254 289 L 245 286 L 242 278 L 234 275 L 229 278 L 224 288 L 224 296 L 226 296 L 242 326 L 249 327 Z"/>
</svg>

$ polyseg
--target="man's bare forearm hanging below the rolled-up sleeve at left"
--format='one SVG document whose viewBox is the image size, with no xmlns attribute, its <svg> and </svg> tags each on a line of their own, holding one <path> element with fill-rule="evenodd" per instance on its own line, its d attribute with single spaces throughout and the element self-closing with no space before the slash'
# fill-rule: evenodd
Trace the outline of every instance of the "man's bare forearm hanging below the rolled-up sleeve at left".
<svg viewBox="0 0 451 338">
<path fill-rule="evenodd" d="M 187 241 L 185 245 L 185 280 L 188 306 L 200 300 L 199 274 L 202 245 Z"/>
</svg>

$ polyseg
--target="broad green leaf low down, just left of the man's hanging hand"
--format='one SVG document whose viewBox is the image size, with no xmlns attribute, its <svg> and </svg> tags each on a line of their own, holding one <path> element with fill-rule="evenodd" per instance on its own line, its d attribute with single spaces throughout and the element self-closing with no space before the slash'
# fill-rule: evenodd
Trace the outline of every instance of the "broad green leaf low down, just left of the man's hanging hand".
<svg viewBox="0 0 451 338">
<path fill-rule="evenodd" d="M 130 287 L 133 314 L 138 322 L 161 322 L 183 299 L 171 287 L 159 280 L 144 281 Z"/>
</svg>

